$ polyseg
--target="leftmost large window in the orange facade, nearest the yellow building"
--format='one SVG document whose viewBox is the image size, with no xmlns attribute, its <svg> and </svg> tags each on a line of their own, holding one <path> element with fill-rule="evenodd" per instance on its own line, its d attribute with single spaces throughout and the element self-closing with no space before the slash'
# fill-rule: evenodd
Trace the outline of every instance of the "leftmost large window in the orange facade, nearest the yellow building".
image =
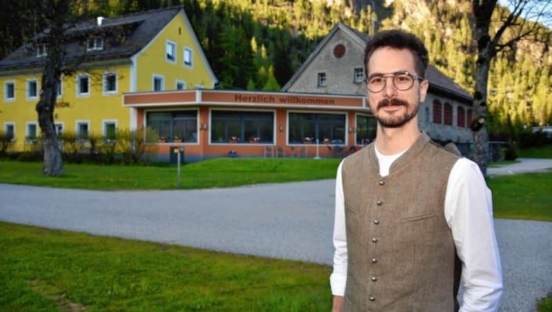
<svg viewBox="0 0 552 312">
<path fill-rule="evenodd" d="M 197 111 L 148 112 L 146 125 L 159 135 L 159 142 L 197 142 Z"/>
</svg>

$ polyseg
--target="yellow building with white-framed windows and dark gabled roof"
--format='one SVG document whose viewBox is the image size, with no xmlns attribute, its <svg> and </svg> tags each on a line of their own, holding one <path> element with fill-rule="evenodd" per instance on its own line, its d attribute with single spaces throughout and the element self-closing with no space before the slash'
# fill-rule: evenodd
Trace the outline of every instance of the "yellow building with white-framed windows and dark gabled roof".
<svg viewBox="0 0 552 312">
<path fill-rule="evenodd" d="M 123 105 L 124 93 L 211 89 L 218 82 L 181 7 L 98 17 L 75 29 L 90 35 L 68 48 L 83 61 L 61 77 L 58 133 L 108 136 L 135 129 L 137 110 Z M 0 61 L 0 130 L 14 136 L 13 150 L 40 135 L 35 106 L 46 55 L 46 44 L 27 44 Z"/>
</svg>

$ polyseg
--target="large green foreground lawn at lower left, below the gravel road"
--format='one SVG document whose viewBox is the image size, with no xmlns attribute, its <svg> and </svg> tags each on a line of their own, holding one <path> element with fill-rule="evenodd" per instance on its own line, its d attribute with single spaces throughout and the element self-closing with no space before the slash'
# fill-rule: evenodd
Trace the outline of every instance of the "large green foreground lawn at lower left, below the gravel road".
<svg viewBox="0 0 552 312">
<path fill-rule="evenodd" d="M 328 311 L 331 268 L 0 222 L 1 311 Z"/>
</svg>

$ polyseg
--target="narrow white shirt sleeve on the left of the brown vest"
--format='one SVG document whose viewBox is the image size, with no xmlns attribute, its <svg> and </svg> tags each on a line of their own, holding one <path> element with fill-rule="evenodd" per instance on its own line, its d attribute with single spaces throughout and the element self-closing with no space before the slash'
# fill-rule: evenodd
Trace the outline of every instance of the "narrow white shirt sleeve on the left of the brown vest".
<svg viewBox="0 0 552 312">
<path fill-rule="evenodd" d="M 333 228 L 333 273 L 330 275 L 330 284 L 333 295 L 344 295 L 347 281 L 347 237 L 345 230 L 345 204 L 342 184 L 343 162 L 337 168 L 335 178 L 335 221 Z"/>
</svg>

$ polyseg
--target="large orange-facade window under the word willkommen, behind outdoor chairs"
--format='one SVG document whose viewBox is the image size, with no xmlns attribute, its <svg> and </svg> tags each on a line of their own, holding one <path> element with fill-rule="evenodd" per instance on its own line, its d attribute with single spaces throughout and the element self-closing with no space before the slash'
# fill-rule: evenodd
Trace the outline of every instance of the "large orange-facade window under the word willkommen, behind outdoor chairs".
<svg viewBox="0 0 552 312">
<path fill-rule="evenodd" d="M 345 115 L 289 113 L 288 142 L 345 144 Z"/>
</svg>

